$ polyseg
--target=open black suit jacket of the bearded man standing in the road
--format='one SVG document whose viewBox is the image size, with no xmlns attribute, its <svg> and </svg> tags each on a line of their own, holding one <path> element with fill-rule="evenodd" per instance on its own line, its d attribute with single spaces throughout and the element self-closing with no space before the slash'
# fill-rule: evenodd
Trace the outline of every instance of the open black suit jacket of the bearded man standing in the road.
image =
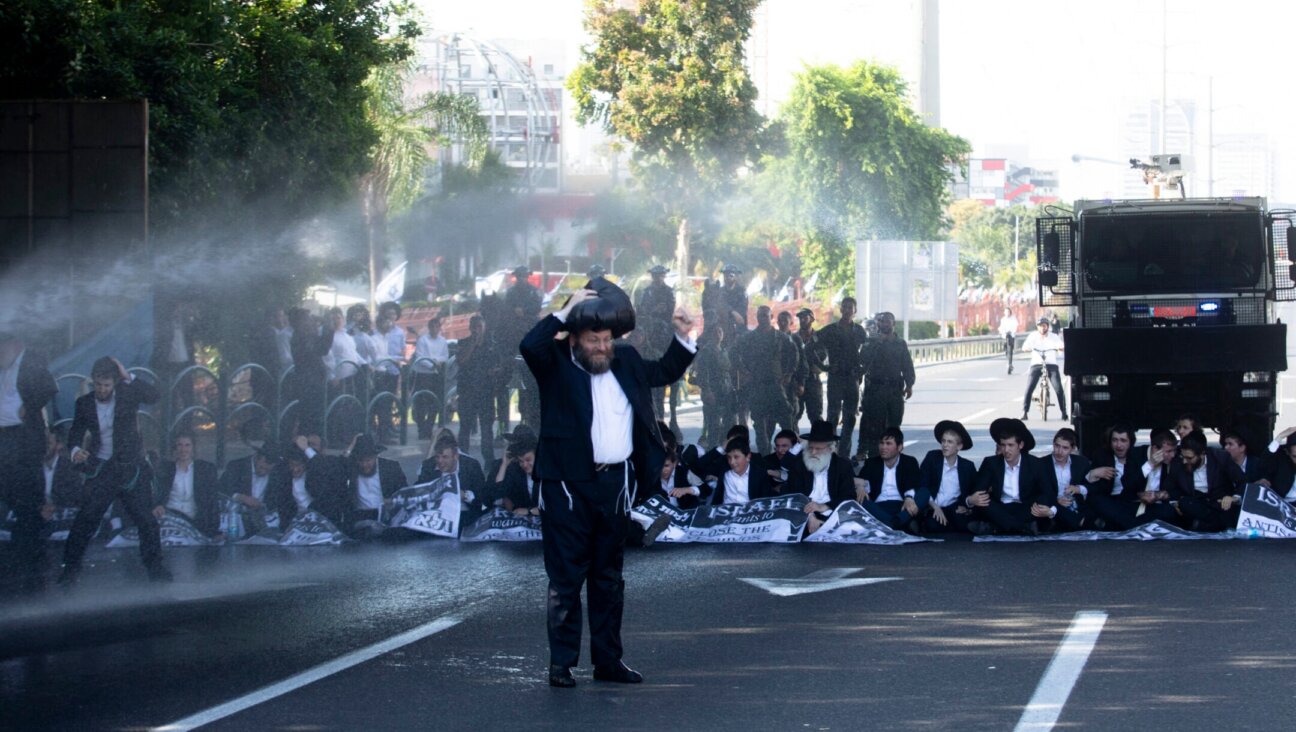
<svg viewBox="0 0 1296 732">
<path fill-rule="evenodd" d="M 535 475 L 546 481 L 568 481 L 579 486 L 592 485 L 594 396 L 590 374 L 572 360 L 566 341 L 555 341 L 564 324 L 550 315 L 527 332 L 518 350 L 535 376 L 540 393 L 540 443 L 535 451 Z M 632 417 L 632 452 L 638 485 L 649 485 L 661 475 L 666 460 L 657 417 L 652 409 L 652 389 L 679 381 L 693 360 L 693 354 L 678 338 L 656 361 L 644 360 L 634 346 L 613 346 L 612 374 L 630 402 Z M 607 503 L 614 496 L 590 496 Z"/>
</svg>

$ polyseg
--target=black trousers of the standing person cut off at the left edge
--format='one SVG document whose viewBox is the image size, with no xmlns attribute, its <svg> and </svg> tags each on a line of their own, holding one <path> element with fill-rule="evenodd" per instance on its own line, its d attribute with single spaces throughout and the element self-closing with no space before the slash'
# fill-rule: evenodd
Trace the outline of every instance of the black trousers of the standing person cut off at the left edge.
<svg viewBox="0 0 1296 732">
<path fill-rule="evenodd" d="M 45 521 L 40 507 L 45 503 L 45 479 L 40 463 L 45 453 L 45 435 L 25 425 L 0 428 L 0 500 L 13 510 L 13 548 L 26 584 L 40 582 L 45 543 L 40 530 Z"/>
</svg>

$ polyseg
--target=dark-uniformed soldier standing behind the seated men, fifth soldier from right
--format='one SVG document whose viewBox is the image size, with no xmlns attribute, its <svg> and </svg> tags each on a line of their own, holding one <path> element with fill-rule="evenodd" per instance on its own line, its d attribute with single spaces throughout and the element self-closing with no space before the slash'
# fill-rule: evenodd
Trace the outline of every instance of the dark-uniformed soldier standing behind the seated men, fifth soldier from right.
<svg viewBox="0 0 1296 732">
<path fill-rule="evenodd" d="M 788 406 L 784 387 L 792 380 L 788 369 L 788 355 L 792 342 L 787 336 L 774 329 L 770 323 L 770 306 L 756 308 L 756 330 L 743 336 L 737 343 L 735 367 L 741 374 L 739 399 L 752 412 L 756 426 L 757 450 L 763 455 L 770 452 L 770 439 L 774 425 L 789 428 L 792 409 Z"/>
</svg>

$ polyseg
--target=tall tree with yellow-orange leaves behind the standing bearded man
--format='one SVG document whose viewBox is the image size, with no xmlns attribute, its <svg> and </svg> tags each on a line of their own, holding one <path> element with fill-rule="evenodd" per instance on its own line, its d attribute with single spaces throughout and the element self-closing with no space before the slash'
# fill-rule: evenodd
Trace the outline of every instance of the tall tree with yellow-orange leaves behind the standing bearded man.
<svg viewBox="0 0 1296 732">
<path fill-rule="evenodd" d="M 759 0 L 588 0 L 594 43 L 568 79 L 577 119 L 632 144 L 635 176 L 677 225 L 691 273 L 689 219 L 754 159 L 762 119 L 744 58 Z"/>
</svg>

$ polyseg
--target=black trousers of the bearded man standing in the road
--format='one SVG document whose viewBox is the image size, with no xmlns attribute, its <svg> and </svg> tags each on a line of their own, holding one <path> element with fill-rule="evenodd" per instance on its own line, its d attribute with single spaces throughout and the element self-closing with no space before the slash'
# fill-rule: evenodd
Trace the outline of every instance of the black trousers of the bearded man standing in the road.
<svg viewBox="0 0 1296 732">
<path fill-rule="evenodd" d="M 544 571 L 550 577 L 550 663 L 572 667 L 581 658 L 581 587 L 588 584 L 590 658 L 621 661 L 621 614 L 626 583 L 625 468 L 595 473 L 594 483 L 540 483 Z M 634 475 L 629 477 L 634 490 Z"/>
</svg>

